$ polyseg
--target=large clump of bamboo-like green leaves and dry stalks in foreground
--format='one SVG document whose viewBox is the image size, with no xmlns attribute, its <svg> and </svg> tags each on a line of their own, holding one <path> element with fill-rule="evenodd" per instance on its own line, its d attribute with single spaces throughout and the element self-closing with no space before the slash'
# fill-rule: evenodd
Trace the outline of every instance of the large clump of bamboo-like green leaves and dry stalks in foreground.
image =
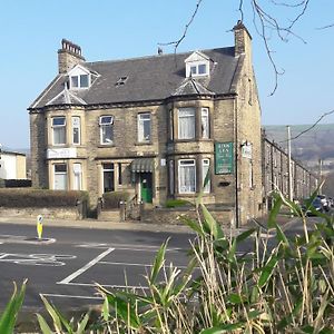
<svg viewBox="0 0 334 334">
<path fill-rule="evenodd" d="M 315 195 L 314 195 L 315 196 Z M 304 234 L 288 238 L 277 224 L 285 206 L 301 217 Z M 226 236 L 202 204 L 198 219 L 185 218 L 197 233 L 188 268 L 166 266 L 167 242 L 160 247 L 148 289 L 107 291 L 100 333 L 333 333 L 333 217 L 308 232 L 301 207 L 275 195 L 269 232 L 259 228 Z M 242 244 L 249 250 L 239 253 Z"/>
</svg>

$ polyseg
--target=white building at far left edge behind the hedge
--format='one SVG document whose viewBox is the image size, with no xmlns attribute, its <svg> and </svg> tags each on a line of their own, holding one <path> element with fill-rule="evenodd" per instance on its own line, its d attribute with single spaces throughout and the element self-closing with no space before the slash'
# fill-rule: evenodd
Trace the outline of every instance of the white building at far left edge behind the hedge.
<svg viewBox="0 0 334 334">
<path fill-rule="evenodd" d="M 0 178 L 27 179 L 26 155 L 18 151 L 0 151 Z"/>
</svg>

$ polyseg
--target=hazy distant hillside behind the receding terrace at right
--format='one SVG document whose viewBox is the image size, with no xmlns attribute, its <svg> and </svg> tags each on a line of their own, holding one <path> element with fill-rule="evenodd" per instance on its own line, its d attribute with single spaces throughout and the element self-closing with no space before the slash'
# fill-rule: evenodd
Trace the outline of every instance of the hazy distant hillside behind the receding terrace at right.
<svg viewBox="0 0 334 334">
<path fill-rule="evenodd" d="M 324 173 L 334 170 L 334 124 L 320 124 L 307 130 L 310 127 L 311 125 L 291 126 L 293 157 L 315 171 L 320 168 L 320 159 Z M 264 126 L 263 128 L 267 138 L 286 148 L 286 126 Z M 307 130 L 305 134 L 294 139 L 305 130 Z"/>
</svg>

